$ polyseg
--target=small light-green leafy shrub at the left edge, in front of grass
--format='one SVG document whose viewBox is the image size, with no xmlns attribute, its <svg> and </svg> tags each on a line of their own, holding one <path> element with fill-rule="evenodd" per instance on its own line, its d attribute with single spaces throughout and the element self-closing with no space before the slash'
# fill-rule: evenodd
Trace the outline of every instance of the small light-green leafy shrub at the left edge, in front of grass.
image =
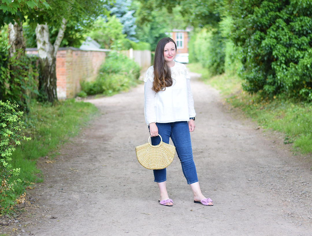
<svg viewBox="0 0 312 236">
<path fill-rule="evenodd" d="M 16 111 L 18 105 L 10 101 L 0 100 L 0 203 L 8 192 L 14 191 L 16 181 L 11 181 L 12 176 L 18 176 L 20 168 L 12 168 L 12 153 L 21 140 L 29 140 L 24 136 L 24 123 L 21 121 L 22 111 Z M 19 179 L 17 179 L 19 181 Z"/>
</svg>

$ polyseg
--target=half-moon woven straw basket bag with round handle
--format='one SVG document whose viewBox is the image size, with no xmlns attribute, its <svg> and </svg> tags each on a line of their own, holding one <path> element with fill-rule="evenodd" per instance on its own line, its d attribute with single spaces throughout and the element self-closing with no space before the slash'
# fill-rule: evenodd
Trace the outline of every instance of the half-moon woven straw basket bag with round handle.
<svg viewBox="0 0 312 236">
<path fill-rule="evenodd" d="M 135 152 L 139 163 L 150 170 L 164 169 L 169 166 L 174 158 L 175 147 L 163 142 L 160 137 L 160 143 L 153 146 L 149 140 L 146 144 L 136 146 Z"/>
</svg>

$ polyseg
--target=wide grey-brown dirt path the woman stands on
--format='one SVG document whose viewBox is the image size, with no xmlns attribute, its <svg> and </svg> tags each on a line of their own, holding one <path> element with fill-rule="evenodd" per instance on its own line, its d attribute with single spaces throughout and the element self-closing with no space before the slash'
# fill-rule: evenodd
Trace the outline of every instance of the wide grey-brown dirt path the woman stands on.
<svg viewBox="0 0 312 236">
<path fill-rule="evenodd" d="M 55 163 L 39 161 L 45 182 L 30 191 L 28 218 L 10 234 L 311 235 L 311 162 L 293 156 L 283 137 L 238 118 L 216 90 L 191 75 L 194 160 L 214 206 L 193 203 L 178 158 L 167 171 L 174 206 L 158 204 L 153 172 L 139 165 L 134 151 L 149 135 L 139 85 L 89 101 L 100 116 Z"/>
</svg>

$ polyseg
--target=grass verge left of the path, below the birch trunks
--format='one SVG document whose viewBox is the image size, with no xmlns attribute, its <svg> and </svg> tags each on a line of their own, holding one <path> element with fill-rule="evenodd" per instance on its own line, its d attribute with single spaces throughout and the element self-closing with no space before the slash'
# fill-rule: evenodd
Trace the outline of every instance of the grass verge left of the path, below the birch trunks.
<svg viewBox="0 0 312 236">
<path fill-rule="evenodd" d="M 31 136 L 32 140 L 22 142 L 12 155 L 12 167 L 21 168 L 18 178 L 22 181 L 14 186 L 14 192 L 0 199 L 0 215 L 12 213 L 12 205 L 25 189 L 43 181 L 36 160 L 44 156 L 54 158 L 58 154 L 57 149 L 70 137 L 77 135 L 96 112 L 93 104 L 76 102 L 74 99 L 60 101 L 55 106 L 38 102 L 32 104 L 31 112 L 22 117 L 26 126 L 25 135 Z M 15 179 L 11 178 L 13 181 Z"/>
</svg>

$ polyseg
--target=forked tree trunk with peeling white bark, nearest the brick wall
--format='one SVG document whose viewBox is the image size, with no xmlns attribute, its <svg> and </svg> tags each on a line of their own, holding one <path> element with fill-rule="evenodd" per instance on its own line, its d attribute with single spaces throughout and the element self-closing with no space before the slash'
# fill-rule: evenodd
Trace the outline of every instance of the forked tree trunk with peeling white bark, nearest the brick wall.
<svg viewBox="0 0 312 236">
<path fill-rule="evenodd" d="M 38 24 L 36 27 L 36 41 L 40 63 L 39 92 L 46 96 L 47 101 L 57 101 L 56 94 L 56 53 L 64 37 L 66 20 L 63 18 L 54 45 L 50 41 L 50 32 L 47 24 Z"/>
</svg>

